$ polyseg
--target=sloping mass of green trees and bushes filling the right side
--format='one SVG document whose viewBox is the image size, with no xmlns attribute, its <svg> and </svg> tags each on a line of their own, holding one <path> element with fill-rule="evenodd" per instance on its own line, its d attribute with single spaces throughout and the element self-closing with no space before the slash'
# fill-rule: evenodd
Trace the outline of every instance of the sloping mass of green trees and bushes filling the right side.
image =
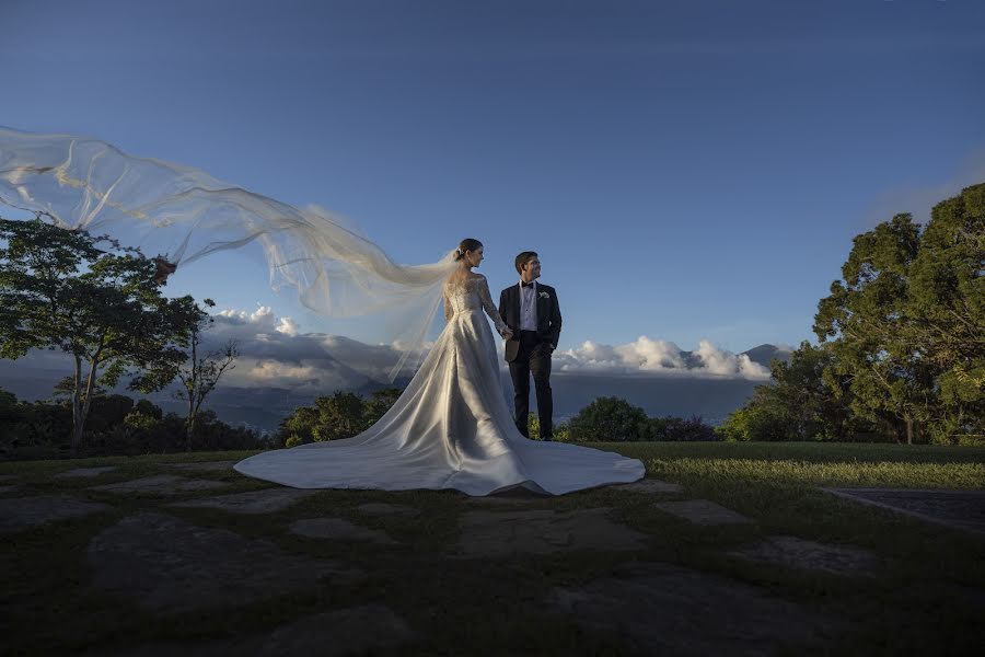
<svg viewBox="0 0 985 657">
<path fill-rule="evenodd" d="M 774 362 L 728 440 L 985 438 L 985 184 L 855 238 L 818 304 L 820 346 Z"/>
</svg>

